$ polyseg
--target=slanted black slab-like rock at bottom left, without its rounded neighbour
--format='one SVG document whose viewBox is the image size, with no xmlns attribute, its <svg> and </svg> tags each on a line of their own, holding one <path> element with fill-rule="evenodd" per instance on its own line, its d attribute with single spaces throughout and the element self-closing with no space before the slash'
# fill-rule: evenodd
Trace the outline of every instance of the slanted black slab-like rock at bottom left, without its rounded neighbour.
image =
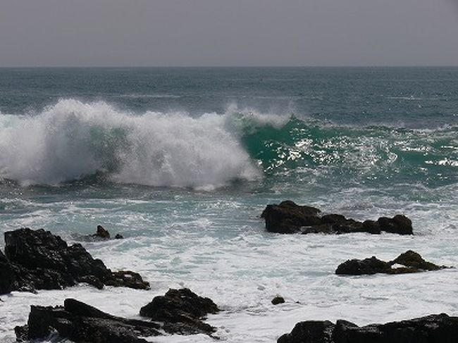
<svg viewBox="0 0 458 343">
<path fill-rule="evenodd" d="M 146 343 L 140 337 L 158 336 L 161 325 L 120 318 L 75 299 L 63 306 L 31 306 L 27 325 L 16 327 L 16 339 L 46 339 L 56 330 L 60 337 L 85 343 Z"/>
</svg>

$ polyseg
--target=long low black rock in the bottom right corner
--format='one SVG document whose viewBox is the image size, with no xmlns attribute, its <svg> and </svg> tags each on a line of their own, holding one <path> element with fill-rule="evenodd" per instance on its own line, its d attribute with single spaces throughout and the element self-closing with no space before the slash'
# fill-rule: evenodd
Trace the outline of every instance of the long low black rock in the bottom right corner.
<svg viewBox="0 0 458 343">
<path fill-rule="evenodd" d="M 346 320 L 297 323 L 278 343 L 454 343 L 458 317 L 445 313 L 359 327 Z"/>
</svg>

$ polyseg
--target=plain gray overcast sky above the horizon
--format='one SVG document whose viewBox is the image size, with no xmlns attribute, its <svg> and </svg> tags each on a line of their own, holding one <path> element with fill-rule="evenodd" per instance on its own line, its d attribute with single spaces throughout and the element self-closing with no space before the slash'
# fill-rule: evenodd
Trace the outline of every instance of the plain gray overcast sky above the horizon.
<svg viewBox="0 0 458 343">
<path fill-rule="evenodd" d="M 0 66 L 458 66 L 458 0 L 0 0 Z"/>
</svg>

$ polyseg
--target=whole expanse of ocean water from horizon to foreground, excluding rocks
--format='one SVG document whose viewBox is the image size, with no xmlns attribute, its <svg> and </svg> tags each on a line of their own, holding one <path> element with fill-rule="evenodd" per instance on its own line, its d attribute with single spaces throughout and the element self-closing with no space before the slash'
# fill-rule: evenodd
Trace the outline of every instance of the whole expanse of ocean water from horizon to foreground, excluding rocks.
<svg viewBox="0 0 458 343">
<path fill-rule="evenodd" d="M 356 220 L 402 213 L 414 235 L 266 232 L 261 212 L 285 199 Z M 88 242 L 97 225 L 125 239 Z M 31 304 L 140 318 L 180 287 L 223 309 L 207 320 L 223 342 L 275 342 L 301 320 L 457 316 L 457 269 L 334 272 L 408 249 L 458 267 L 458 68 L 0 69 L 0 230 L 20 227 L 80 242 L 151 290 L 1 296 L 1 342 Z"/>
</svg>

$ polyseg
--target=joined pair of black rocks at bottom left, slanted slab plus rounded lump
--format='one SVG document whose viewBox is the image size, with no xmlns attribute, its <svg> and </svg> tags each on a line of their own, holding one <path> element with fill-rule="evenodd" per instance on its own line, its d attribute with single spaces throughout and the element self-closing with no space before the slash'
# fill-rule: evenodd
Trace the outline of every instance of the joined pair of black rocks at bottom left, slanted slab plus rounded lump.
<svg viewBox="0 0 458 343">
<path fill-rule="evenodd" d="M 202 320 L 218 311 L 211 299 L 190 289 L 169 289 L 142 307 L 140 316 L 149 321 L 112 316 L 76 299 L 66 299 L 63 306 L 31 306 L 27 325 L 17 326 L 15 332 L 18 342 L 47 339 L 56 331 L 59 337 L 77 343 L 144 343 L 147 341 L 141 337 L 164 333 L 211 336 L 216 328 Z"/>
</svg>

